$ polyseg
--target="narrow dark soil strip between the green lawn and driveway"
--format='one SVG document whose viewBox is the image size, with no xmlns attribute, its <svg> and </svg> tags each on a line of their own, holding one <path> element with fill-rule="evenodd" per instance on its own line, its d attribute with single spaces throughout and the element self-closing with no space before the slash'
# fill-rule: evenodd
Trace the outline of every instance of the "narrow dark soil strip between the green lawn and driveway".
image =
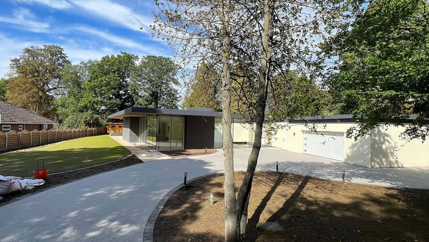
<svg viewBox="0 0 429 242">
<path fill-rule="evenodd" d="M 134 165 L 134 164 L 138 164 L 138 163 L 143 163 L 143 162 L 138 157 L 136 157 L 136 155 L 133 154 L 130 157 L 127 157 L 125 159 L 118 160 L 118 161 L 111 162 L 111 163 L 101 164 L 99 166 L 88 167 L 88 168 L 79 169 L 76 171 L 63 172 L 63 173 L 59 173 L 59 174 L 48 175 L 48 180 L 45 182 L 45 184 L 43 184 L 41 186 L 36 186 L 30 190 L 24 189 L 21 192 L 17 192 L 17 193 L 13 193 L 13 194 L 3 196 L 3 199 L 0 200 L 0 206 L 2 206 L 1 204 L 7 203 L 12 199 L 15 199 L 18 197 L 23 197 L 27 194 L 32 194 L 32 193 L 35 193 L 39 190 L 51 188 L 51 187 L 54 187 L 56 185 L 69 183 L 69 182 L 74 181 L 74 180 L 79 179 L 79 178 L 85 178 L 85 177 L 88 177 L 91 175 L 96 175 L 99 173 L 119 169 L 119 168 L 122 168 L 125 166 L 130 166 L 130 165 Z"/>
</svg>

